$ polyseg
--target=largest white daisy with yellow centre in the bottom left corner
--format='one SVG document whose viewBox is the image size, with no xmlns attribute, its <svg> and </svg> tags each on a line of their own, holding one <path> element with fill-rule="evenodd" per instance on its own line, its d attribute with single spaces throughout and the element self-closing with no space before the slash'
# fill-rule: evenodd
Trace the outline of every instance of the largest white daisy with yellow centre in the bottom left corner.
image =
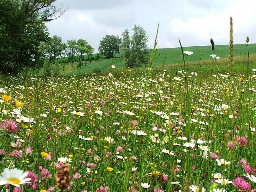
<svg viewBox="0 0 256 192">
<path fill-rule="evenodd" d="M 9 170 L 5 168 L 0 176 L 0 185 L 10 184 L 20 187 L 21 184 L 30 183 L 31 178 L 25 178 L 28 172 L 23 172 L 17 168 Z"/>
</svg>

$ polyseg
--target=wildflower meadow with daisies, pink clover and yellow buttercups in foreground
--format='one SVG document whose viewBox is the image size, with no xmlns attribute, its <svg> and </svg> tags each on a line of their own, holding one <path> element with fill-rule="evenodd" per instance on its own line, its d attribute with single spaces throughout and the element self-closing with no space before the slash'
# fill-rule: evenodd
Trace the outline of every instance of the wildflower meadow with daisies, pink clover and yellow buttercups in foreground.
<svg viewBox="0 0 256 192">
<path fill-rule="evenodd" d="M 227 60 L 191 56 L 176 68 L 1 76 L 0 190 L 255 188 L 255 55 L 234 58 L 231 81 Z"/>
</svg>

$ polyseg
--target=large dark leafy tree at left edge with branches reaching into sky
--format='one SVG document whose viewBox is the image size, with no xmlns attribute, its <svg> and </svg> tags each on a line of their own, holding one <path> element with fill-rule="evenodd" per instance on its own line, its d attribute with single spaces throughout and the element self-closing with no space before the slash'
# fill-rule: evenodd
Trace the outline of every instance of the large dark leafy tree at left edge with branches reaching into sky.
<svg viewBox="0 0 256 192">
<path fill-rule="evenodd" d="M 0 1 L 0 68 L 16 72 L 35 66 L 39 45 L 49 36 L 45 22 L 59 18 L 66 10 L 56 9 L 55 0 Z"/>
</svg>

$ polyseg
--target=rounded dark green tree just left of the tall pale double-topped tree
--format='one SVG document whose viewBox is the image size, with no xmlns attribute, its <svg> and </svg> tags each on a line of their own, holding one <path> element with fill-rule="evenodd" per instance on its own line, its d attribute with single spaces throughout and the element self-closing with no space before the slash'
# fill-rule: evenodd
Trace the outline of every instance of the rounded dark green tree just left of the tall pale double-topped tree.
<svg viewBox="0 0 256 192">
<path fill-rule="evenodd" d="M 121 41 L 122 39 L 119 36 L 106 35 L 100 41 L 99 52 L 106 55 L 107 58 L 112 58 L 114 52 L 120 52 Z"/>
</svg>

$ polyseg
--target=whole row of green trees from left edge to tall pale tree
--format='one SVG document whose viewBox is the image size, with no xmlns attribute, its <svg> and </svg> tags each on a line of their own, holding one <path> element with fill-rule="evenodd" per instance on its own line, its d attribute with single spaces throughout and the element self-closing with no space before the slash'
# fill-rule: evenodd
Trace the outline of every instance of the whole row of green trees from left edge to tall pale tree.
<svg viewBox="0 0 256 192">
<path fill-rule="evenodd" d="M 24 68 L 40 68 L 47 62 L 66 63 L 113 58 L 115 53 L 127 67 L 147 65 L 149 52 L 146 31 L 135 25 L 133 35 L 125 29 L 122 37 L 106 35 L 100 40 L 99 53 L 84 39 L 62 41 L 60 36 L 49 36 L 45 22 L 59 18 L 67 11 L 57 9 L 56 0 L 1 0 L 0 1 L 0 70 L 16 73 Z"/>
</svg>

